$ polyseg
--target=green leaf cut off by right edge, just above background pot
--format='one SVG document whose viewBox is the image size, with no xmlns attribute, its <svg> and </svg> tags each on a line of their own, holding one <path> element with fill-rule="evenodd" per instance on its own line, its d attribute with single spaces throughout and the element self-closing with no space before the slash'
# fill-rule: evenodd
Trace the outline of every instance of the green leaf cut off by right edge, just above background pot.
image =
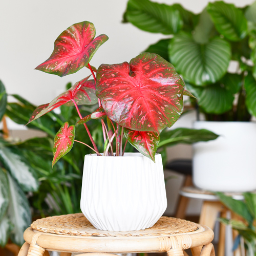
<svg viewBox="0 0 256 256">
<path fill-rule="evenodd" d="M 251 73 L 245 77 L 244 88 L 246 91 L 245 104 L 249 113 L 256 116 L 256 81 Z"/>
</svg>

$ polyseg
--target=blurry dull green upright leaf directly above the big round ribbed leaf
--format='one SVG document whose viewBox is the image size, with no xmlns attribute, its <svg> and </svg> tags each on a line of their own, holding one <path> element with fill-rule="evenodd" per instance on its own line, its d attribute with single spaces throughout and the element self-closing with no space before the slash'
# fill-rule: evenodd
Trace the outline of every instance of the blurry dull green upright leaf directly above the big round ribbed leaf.
<svg viewBox="0 0 256 256">
<path fill-rule="evenodd" d="M 206 44 L 209 41 L 212 28 L 214 28 L 214 23 L 212 23 L 207 10 L 204 9 L 199 16 L 199 22 L 193 33 L 195 41 L 199 44 Z"/>
</svg>

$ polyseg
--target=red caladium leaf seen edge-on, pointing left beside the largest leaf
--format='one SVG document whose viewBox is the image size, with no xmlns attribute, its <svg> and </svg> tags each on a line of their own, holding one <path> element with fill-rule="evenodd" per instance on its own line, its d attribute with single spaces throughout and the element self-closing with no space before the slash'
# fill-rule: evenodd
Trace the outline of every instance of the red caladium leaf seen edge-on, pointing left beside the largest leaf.
<svg viewBox="0 0 256 256">
<path fill-rule="evenodd" d="M 90 76 L 82 79 L 79 82 L 76 82 L 74 86 L 72 86 L 68 91 L 57 96 L 49 104 L 38 106 L 32 113 L 28 123 L 58 108 L 58 106 L 63 104 L 69 106 L 74 105 L 73 100 L 77 105 L 96 104 L 98 102 L 98 98 L 95 94 L 95 82 L 94 80 L 87 81 L 89 77 Z"/>
</svg>

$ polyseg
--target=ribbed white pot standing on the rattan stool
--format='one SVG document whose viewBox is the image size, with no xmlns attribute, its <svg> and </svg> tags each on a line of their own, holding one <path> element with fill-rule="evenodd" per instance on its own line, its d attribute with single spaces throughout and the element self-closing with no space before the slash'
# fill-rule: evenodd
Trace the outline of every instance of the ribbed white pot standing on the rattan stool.
<svg viewBox="0 0 256 256">
<path fill-rule="evenodd" d="M 163 165 L 140 153 L 84 157 L 81 210 L 97 229 L 130 231 L 152 227 L 167 207 Z"/>
</svg>

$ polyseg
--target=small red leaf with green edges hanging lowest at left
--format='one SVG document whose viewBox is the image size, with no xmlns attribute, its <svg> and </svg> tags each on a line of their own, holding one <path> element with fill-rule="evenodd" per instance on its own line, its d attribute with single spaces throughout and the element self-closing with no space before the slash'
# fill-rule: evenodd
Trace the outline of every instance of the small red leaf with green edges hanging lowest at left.
<svg viewBox="0 0 256 256">
<path fill-rule="evenodd" d="M 75 139 L 75 125 L 69 126 L 68 122 L 65 122 L 54 138 L 53 147 L 53 160 L 52 166 L 73 147 Z"/>
</svg>

